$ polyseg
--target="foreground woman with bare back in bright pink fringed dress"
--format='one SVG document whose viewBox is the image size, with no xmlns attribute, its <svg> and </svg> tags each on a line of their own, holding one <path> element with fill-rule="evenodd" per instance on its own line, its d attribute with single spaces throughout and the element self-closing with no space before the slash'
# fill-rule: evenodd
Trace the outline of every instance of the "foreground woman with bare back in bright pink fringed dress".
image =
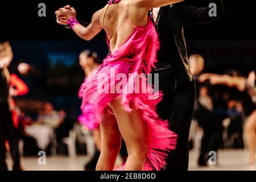
<svg viewBox="0 0 256 182">
<path fill-rule="evenodd" d="M 158 35 L 148 18 L 148 10 L 180 1 L 109 1 L 93 14 L 87 27 L 77 22 L 72 7 L 56 11 L 56 14 L 63 14 L 73 31 L 85 40 L 92 39 L 102 28 L 106 32 L 109 55 L 98 72 L 82 84 L 79 93 L 82 106 L 90 103 L 94 107 L 101 127 L 102 147 L 96 170 L 113 170 L 121 137 L 128 152 L 125 170 L 159 170 L 166 164 L 167 151 L 175 148 L 176 134 L 155 111 L 162 95 L 153 92 L 152 88 L 143 92 L 142 83 L 147 81 L 146 76 L 140 77 L 139 84 L 134 84 L 134 80 L 136 75 L 150 73 L 159 48 Z M 121 80 L 126 80 L 125 84 L 120 85 L 118 81 Z"/>
</svg>

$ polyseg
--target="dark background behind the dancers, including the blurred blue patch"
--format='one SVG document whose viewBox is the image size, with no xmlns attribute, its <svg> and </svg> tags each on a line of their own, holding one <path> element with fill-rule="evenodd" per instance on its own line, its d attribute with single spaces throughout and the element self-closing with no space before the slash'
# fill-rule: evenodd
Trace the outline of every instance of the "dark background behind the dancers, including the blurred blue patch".
<svg viewBox="0 0 256 182">
<path fill-rule="evenodd" d="M 38 4 L 42 2 L 46 3 L 46 17 L 38 16 Z M 209 2 L 186 0 L 180 5 L 206 7 Z M 77 92 L 84 79 L 78 65 L 79 53 L 89 48 L 104 58 L 107 48 L 104 40 L 86 42 L 56 23 L 55 10 L 67 4 L 75 7 L 78 19 L 89 22 L 94 11 L 106 1 L 1 1 L 0 39 L 10 40 L 13 47 L 13 72 L 20 61 L 32 66 L 31 73 L 23 78 L 30 93 L 17 99 L 20 105 L 27 106 L 28 100 L 51 101 L 57 109 L 65 108 L 77 115 L 80 106 Z M 246 76 L 256 68 L 256 2 L 224 0 L 224 5 L 224 19 L 185 28 L 188 54 L 203 55 L 206 72 L 236 69 Z M 32 109 L 36 108 L 33 105 Z"/>
</svg>

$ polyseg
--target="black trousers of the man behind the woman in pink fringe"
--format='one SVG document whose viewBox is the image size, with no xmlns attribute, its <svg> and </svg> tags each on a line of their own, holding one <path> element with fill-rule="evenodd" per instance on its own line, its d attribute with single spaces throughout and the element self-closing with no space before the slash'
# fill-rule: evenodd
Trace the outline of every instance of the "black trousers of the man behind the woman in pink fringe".
<svg viewBox="0 0 256 182">
<path fill-rule="evenodd" d="M 159 74 L 159 90 L 164 94 L 157 107 L 159 117 L 168 119 L 170 129 L 178 135 L 176 150 L 170 152 L 166 170 L 187 170 L 188 135 L 195 102 L 195 85 L 189 81 L 181 64 L 152 73 Z"/>
</svg>

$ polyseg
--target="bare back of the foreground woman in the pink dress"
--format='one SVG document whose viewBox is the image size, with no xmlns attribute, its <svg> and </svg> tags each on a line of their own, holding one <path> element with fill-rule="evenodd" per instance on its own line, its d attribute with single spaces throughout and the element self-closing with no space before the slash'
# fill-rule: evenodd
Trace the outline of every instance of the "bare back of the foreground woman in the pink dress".
<svg viewBox="0 0 256 182">
<path fill-rule="evenodd" d="M 138 7 L 132 0 L 106 5 L 101 12 L 101 26 L 108 36 L 112 52 L 126 42 L 133 33 L 134 26 L 147 24 L 148 9 Z"/>
</svg>

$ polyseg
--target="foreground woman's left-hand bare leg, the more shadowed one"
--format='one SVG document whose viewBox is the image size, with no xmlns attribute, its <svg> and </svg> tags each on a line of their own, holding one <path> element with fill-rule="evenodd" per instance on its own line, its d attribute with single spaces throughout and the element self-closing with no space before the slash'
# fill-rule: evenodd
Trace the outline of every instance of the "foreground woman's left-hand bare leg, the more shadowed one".
<svg viewBox="0 0 256 182">
<path fill-rule="evenodd" d="M 100 131 L 101 155 L 98 159 L 96 171 L 111 171 L 114 168 L 115 160 L 121 148 L 121 134 L 119 133 L 114 115 L 109 114 L 108 111 L 105 111 Z"/>
</svg>

